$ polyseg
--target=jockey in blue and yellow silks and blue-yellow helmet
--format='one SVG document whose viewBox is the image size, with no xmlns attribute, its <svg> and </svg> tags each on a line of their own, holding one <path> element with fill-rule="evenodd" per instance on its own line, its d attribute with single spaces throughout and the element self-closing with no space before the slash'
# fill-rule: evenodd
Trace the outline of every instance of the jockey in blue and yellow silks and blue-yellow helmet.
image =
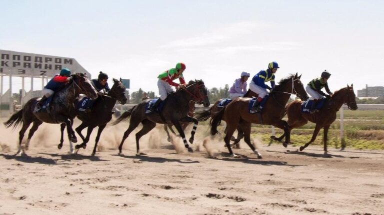
<svg viewBox="0 0 384 215">
<path fill-rule="evenodd" d="M 259 103 L 262 98 L 267 94 L 266 89 L 272 90 L 274 88 L 274 73 L 278 69 L 278 64 L 276 62 L 270 62 L 268 64 L 267 70 L 261 70 L 255 74 L 252 78 L 252 81 L 249 83 L 249 89 L 258 94 L 257 100 L 253 103 L 251 111 L 258 112 L 262 107 L 259 107 Z M 265 82 L 270 81 L 270 86 L 264 84 Z"/>
</svg>

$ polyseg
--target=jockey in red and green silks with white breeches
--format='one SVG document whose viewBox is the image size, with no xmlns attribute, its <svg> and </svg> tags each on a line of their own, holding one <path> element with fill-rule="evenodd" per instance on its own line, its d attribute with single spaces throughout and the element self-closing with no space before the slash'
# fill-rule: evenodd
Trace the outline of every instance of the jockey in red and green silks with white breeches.
<svg viewBox="0 0 384 215">
<path fill-rule="evenodd" d="M 168 93 L 173 92 L 172 87 L 170 87 L 171 85 L 174 87 L 185 88 L 186 84 L 184 77 L 182 76 L 182 72 L 184 70 L 185 64 L 179 62 L 176 64 L 175 68 L 166 70 L 157 76 L 158 94 L 160 95 L 160 98 L 157 99 L 156 103 L 154 103 L 154 105 L 150 108 L 151 111 L 154 111 L 158 104 L 166 99 Z M 173 80 L 176 78 L 178 78 L 180 84 L 173 82 Z"/>
</svg>

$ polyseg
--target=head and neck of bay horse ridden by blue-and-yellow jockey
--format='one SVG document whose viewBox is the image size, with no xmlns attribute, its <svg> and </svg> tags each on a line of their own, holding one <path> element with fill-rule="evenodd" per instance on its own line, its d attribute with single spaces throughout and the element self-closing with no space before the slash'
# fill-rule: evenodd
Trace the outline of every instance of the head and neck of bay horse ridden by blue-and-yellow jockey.
<svg viewBox="0 0 384 215">
<path fill-rule="evenodd" d="M 304 86 L 302 85 L 300 78 L 301 75 L 297 76 L 297 73 L 294 75 L 291 74 L 290 76 L 281 79 L 280 82 L 278 82 L 278 85 L 273 89 L 273 91 L 282 92 L 286 94 L 295 94 L 301 100 L 305 101 L 309 97 L 305 92 Z"/>
</svg>

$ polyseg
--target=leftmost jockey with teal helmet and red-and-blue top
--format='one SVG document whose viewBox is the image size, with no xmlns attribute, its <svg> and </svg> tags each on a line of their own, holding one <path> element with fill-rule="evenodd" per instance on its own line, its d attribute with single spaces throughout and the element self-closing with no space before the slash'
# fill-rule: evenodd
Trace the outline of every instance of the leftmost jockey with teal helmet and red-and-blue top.
<svg viewBox="0 0 384 215">
<path fill-rule="evenodd" d="M 42 103 L 53 95 L 58 89 L 64 86 L 68 81 L 71 80 L 70 70 L 68 68 L 63 68 L 60 71 L 60 74 L 56 74 L 48 83 L 44 86 L 44 89 L 41 90 L 42 97 L 40 101 L 37 102 L 37 108 L 40 109 Z"/>
</svg>

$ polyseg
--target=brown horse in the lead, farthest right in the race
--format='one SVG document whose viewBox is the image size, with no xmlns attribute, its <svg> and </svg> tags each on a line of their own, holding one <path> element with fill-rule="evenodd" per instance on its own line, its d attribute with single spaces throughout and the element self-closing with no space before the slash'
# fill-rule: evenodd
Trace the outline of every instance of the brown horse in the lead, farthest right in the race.
<svg viewBox="0 0 384 215">
<path fill-rule="evenodd" d="M 342 104 L 346 104 L 350 110 L 356 110 L 357 104 L 355 100 L 355 95 L 353 92 L 353 84 L 350 86 L 346 86 L 344 88 L 341 88 L 333 93 L 333 95 L 330 97 L 329 100 L 324 102 L 324 106 L 319 110 L 319 112 L 310 114 L 310 113 L 303 113 L 300 111 L 300 107 L 302 104 L 302 101 L 294 100 L 286 105 L 285 112 L 288 116 L 288 131 L 290 132 L 294 128 L 299 128 L 308 121 L 313 122 L 316 124 L 312 138 L 309 142 L 307 142 L 304 146 L 300 147 L 300 151 L 304 150 L 309 144 L 311 144 L 315 139 L 320 131 L 321 128 L 324 130 L 324 155 L 327 154 L 326 149 L 326 141 L 327 141 L 327 134 L 330 124 L 334 122 L 336 119 L 336 112 L 340 109 Z M 271 136 L 273 140 L 281 141 L 281 139 L 285 136 L 285 133 L 282 134 L 279 138 L 276 138 L 274 136 Z"/>
</svg>

